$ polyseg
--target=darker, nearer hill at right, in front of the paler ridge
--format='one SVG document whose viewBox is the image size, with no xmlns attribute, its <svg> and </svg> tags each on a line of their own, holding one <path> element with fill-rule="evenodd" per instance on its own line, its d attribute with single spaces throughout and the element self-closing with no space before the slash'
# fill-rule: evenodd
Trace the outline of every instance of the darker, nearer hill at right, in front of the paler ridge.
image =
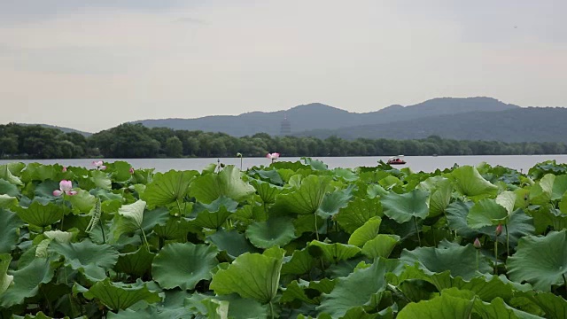
<svg viewBox="0 0 567 319">
<path fill-rule="evenodd" d="M 567 108 L 527 107 L 501 112 L 471 112 L 431 116 L 411 121 L 379 125 L 320 129 L 297 136 L 345 139 L 395 138 L 420 139 L 436 135 L 457 140 L 517 142 L 567 142 Z"/>
</svg>

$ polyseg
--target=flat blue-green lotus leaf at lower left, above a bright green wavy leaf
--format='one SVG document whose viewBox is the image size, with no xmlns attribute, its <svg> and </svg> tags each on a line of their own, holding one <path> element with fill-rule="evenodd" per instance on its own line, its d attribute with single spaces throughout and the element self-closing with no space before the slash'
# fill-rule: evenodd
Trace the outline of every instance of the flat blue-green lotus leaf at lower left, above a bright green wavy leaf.
<svg viewBox="0 0 567 319">
<path fill-rule="evenodd" d="M 113 268 L 119 253 L 110 245 L 96 245 L 90 240 L 80 243 L 59 244 L 51 242 L 50 250 L 65 257 L 65 265 L 82 272 L 89 280 L 106 277 L 106 270 Z"/>
</svg>

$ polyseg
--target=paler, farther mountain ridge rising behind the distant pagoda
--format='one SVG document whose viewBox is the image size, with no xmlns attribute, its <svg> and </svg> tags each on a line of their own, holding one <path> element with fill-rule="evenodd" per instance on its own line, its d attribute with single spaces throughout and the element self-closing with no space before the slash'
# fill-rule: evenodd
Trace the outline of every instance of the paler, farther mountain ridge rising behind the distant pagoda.
<svg viewBox="0 0 567 319">
<path fill-rule="evenodd" d="M 348 128 L 393 121 L 410 121 L 441 114 L 492 113 L 517 108 L 519 106 L 505 104 L 491 97 L 441 97 L 417 105 L 392 105 L 371 113 L 350 113 L 336 107 L 315 103 L 271 113 L 252 112 L 235 116 L 144 120 L 134 123 L 141 123 L 148 128 L 202 130 L 226 133 L 230 136 L 252 136 L 256 133 L 279 135 L 280 124 L 284 117 L 291 122 L 291 131 L 299 133 L 311 129 Z"/>
</svg>

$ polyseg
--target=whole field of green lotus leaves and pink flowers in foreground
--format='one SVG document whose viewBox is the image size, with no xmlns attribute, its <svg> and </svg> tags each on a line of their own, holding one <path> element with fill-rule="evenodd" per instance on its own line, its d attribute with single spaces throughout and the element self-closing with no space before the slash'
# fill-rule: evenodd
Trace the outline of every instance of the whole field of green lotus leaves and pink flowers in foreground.
<svg viewBox="0 0 567 319">
<path fill-rule="evenodd" d="M 567 317 L 567 165 L 275 159 L 0 166 L 0 317 Z"/>
</svg>

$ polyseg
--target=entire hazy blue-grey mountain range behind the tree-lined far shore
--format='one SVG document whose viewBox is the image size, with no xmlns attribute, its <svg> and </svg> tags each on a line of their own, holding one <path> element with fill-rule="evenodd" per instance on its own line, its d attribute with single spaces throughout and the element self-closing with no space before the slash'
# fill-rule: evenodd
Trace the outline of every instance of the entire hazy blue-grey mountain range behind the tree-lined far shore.
<svg viewBox="0 0 567 319">
<path fill-rule="evenodd" d="M 291 124 L 293 136 L 416 139 L 437 135 L 466 140 L 567 143 L 567 108 L 520 107 L 492 97 L 440 97 L 416 105 L 391 105 L 369 113 L 351 113 L 313 103 L 287 111 L 132 123 L 141 123 L 149 128 L 222 132 L 230 136 L 252 136 L 256 133 L 277 136 L 281 134 L 283 119 Z M 72 128 L 59 129 L 76 131 Z"/>
</svg>

